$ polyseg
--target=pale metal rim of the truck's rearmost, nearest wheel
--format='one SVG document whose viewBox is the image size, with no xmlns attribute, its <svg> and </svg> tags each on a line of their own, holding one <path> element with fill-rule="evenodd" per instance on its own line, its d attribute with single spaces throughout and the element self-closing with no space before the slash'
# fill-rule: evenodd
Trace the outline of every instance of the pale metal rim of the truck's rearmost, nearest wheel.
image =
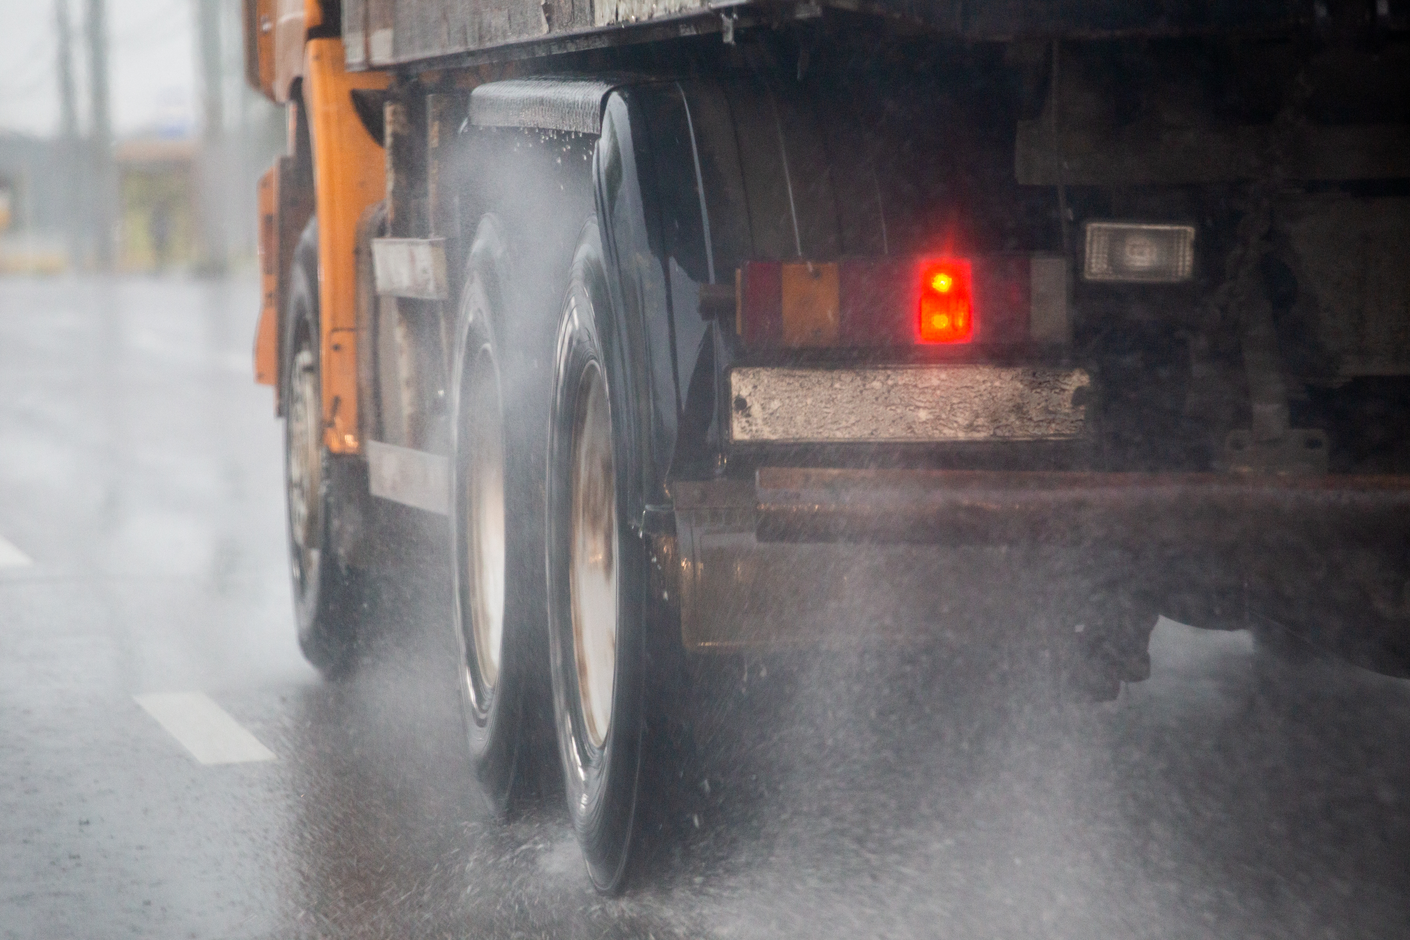
<svg viewBox="0 0 1410 940">
<path fill-rule="evenodd" d="M 608 388 L 596 362 L 578 386 L 572 428 L 570 590 L 572 648 L 582 724 L 594 747 L 606 741 L 616 681 L 616 479 Z"/>
</svg>

